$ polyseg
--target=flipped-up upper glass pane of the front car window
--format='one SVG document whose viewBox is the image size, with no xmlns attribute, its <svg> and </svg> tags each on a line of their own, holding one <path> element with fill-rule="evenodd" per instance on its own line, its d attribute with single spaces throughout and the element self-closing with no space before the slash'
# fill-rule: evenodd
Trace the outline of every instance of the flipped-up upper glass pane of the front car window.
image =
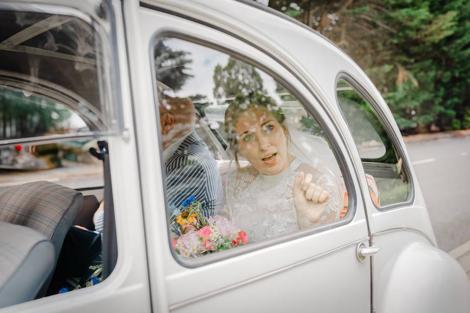
<svg viewBox="0 0 470 313">
<path fill-rule="evenodd" d="M 31 10 L 0 10 L 0 143 L 119 131 L 109 38 L 79 18 Z"/>
</svg>

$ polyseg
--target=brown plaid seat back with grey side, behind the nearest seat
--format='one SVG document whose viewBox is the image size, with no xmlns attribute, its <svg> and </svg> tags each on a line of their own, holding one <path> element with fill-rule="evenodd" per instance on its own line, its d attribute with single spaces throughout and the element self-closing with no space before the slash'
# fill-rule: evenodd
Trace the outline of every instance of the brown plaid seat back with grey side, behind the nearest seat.
<svg viewBox="0 0 470 313">
<path fill-rule="evenodd" d="M 82 194 L 48 181 L 14 186 L 0 195 L 0 221 L 23 225 L 43 234 L 56 255 L 83 203 Z"/>
</svg>

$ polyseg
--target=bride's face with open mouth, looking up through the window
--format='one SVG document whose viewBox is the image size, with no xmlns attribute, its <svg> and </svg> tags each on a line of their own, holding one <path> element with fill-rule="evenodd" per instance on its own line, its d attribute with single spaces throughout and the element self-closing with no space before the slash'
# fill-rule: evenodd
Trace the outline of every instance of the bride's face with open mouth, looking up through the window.
<svg viewBox="0 0 470 313">
<path fill-rule="evenodd" d="M 235 125 L 238 154 L 261 174 L 274 175 L 289 166 L 287 132 L 266 109 L 240 114 Z"/>
</svg>

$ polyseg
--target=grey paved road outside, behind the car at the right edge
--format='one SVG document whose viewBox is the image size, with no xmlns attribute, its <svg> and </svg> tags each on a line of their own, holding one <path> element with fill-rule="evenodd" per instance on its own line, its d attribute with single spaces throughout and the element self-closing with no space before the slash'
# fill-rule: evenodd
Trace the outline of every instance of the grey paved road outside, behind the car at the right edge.
<svg viewBox="0 0 470 313">
<path fill-rule="evenodd" d="M 434 228 L 444 251 L 470 240 L 470 137 L 408 142 Z"/>
</svg>

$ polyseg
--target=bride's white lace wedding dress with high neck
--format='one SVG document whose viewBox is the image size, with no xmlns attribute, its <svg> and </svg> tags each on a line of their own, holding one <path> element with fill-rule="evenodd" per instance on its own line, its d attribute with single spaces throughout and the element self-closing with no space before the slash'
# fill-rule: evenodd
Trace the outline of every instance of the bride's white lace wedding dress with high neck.
<svg viewBox="0 0 470 313">
<path fill-rule="evenodd" d="M 299 230 L 292 197 L 292 187 L 297 175 L 305 168 L 298 158 L 282 173 L 265 176 L 241 173 L 235 186 L 231 219 L 248 235 L 249 242 L 281 236 Z M 339 218 L 340 190 L 330 175 L 310 168 L 312 182 L 329 193 L 329 200 L 321 224 L 327 215 Z M 305 170 L 304 170 L 305 172 Z M 306 174 L 306 173 L 305 173 Z"/>
</svg>

